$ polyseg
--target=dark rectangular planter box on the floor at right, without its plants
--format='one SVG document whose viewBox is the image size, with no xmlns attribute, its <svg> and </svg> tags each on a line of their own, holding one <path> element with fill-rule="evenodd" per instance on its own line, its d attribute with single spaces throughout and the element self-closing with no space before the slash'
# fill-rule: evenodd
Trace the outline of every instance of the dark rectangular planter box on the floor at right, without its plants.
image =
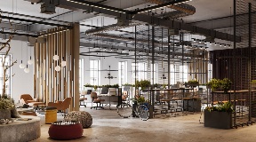
<svg viewBox="0 0 256 142">
<path fill-rule="evenodd" d="M 228 130 L 232 127 L 232 113 L 228 112 L 209 112 L 204 110 L 204 127 L 212 127 Z"/>
</svg>

